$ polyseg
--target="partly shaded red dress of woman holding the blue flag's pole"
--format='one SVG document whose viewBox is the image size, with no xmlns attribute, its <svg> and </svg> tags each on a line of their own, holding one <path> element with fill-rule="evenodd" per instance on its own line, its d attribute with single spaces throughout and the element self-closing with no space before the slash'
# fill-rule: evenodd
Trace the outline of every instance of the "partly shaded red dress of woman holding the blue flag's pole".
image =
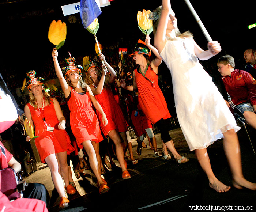
<svg viewBox="0 0 256 212">
<path fill-rule="evenodd" d="M 96 88 L 95 85 L 93 86 Z M 101 130 L 104 133 L 104 135 L 107 136 L 108 133 L 114 129 L 116 129 L 117 132 L 128 131 L 123 112 L 118 103 L 116 102 L 110 88 L 103 88 L 101 94 L 95 95 L 95 98 L 101 105 L 108 120 L 107 126 L 103 126 L 102 115 L 98 111 L 96 111 L 97 116 L 99 118 Z"/>
</svg>

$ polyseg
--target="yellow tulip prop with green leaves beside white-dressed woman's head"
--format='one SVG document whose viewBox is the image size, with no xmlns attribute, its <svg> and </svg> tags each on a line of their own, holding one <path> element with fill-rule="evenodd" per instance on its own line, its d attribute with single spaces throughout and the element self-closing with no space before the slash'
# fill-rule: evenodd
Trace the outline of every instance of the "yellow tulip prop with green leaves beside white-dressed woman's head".
<svg viewBox="0 0 256 212">
<path fill-rule="evenodd" d="M 138 11 L 137 13 L 138 27 L 145 35 L 149 35 L 153 31 L 153 22 L 148 19 L 150 12 L 150 10 L 143 10 L 142 12 Z"/>
</svg>

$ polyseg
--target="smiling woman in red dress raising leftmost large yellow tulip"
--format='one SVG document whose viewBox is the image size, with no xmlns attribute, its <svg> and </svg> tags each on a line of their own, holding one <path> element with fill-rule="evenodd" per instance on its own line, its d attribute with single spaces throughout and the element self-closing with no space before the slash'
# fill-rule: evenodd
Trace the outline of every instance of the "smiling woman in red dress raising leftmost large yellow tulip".
<svg viewBox="0 0 256 212">
<path fill-rule="evenodd" d="M 69 57 L 66 59 L 67 63 L 69 63 L 68 67 L 64 67 L 66 81 L 58 63 L 56 48 L 52 51 L 52 57 L 56 75 L 70 110 L 71 130 L 78 146 L 83 145 L 87 152 L 91 169 L 98 181 L 99 193 L 108 192 L 109 187 L 106 185 L 107 182 L 101 178 L 100 166 L 96 156 L 96 154 L 99 154 L 98 143 L 103 140 L 103 137 L 101 136 L 99 122 L 92 108 L 92 103 L 95 109 L 102 115 L 104 125 L 108 124 L 106 115 L 91 92 L 91 88 L 83 82 L 80 75 L 81 70 L 75 65 L 75 58 Z"/>
</svg>

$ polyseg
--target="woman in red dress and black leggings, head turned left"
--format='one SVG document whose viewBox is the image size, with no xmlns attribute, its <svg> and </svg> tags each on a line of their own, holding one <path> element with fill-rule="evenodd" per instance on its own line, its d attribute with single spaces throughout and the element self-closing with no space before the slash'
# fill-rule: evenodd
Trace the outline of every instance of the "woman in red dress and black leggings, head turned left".
<svg viewBox="0 0 256 212">
<path fill-rule="evenodd" d="M 156 58 L 149 61 L 151 51 Z M 157 49 L 150 44 L 149 35 L 145 42 L 139 40 L 134 52 L 130 55 L 138 65 L 133 71 L 133 85 L 127 86 L 124 80 L 120 80 L 121 86 L 129 91 L 138 89 L 139 105 L 146 117 L 155 124 L 161 133 L 161 139 L 166 147 L 172 152 L 178 163 L 185 163 L 188 158 L 182 157 L 176 151 L 173 140 L 169 135 L 170 113 L 161 89 L 158 86 L 158 66 L 162 63 Z M 164 148 L 164 145 L 163 145 Z M 160 155 L 158 152 L 156 154 Z"/>
</svg>

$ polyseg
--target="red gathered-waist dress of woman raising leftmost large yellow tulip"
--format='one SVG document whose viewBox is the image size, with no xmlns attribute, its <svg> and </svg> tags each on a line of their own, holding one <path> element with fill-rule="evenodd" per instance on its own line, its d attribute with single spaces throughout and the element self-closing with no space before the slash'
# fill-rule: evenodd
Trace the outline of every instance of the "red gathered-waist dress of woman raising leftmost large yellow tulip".
<svg viewBox="0 0 256 212">
<path fill-rule="evenodd" d="M 70 98 L 67 98 L 70 110 L 71 130 L 80 146 L 84 141 L 90 140 L 99 143 L 103 140 L 99 121 L 91 107 L 89 93 L 79 94 L 71 88 Z"/>
</svg>

